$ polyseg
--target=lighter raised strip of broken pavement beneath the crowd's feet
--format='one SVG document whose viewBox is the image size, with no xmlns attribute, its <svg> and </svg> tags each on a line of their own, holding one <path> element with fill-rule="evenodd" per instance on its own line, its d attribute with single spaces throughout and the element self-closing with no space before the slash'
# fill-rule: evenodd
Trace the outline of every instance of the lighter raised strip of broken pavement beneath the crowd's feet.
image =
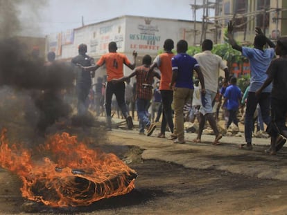
<svg viewBox="0 0 287 215">
<path fill-rule="evenodd" d="M 116 121 L 116 120 L 114 120 Z M 122 121 L 122 120 L 120 120 Z M 212 145 L 214 135 L 202 135 L 205 142 L 194 143 L 195 133 L 186 133 L 186 144 L 174 144 L 172 140 L 157 138 L 153 135 L 139 135 L 137 129 L 113 129 L 108 131 L 112 144 L 134 145 L 144 149 L 143 159 L 174 162 L 193 169 L 216 169 L 234 174 L 287 180 L 287 148 L 284 146 L 276 156 L 264 153 L 270 139 L 253 138 L 252 151 L 238 149 L 244 143 L 242 137 L 223 137 L 218 146 Z M 169 136 L 169 133 L 166 133 Z"/>
</svg>

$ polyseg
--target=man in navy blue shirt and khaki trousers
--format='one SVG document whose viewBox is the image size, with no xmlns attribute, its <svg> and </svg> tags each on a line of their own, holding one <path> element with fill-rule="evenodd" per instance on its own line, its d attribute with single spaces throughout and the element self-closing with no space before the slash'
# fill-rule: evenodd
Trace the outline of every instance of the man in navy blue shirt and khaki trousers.
<svg viewBox="0 0 287 215">
<path fill-rule="evenodd" d="M 175 143 L 184 141 L 184 104 L 193 98 L 193 70 L 198 73 L 198 80 L 202 86 L 201 93 L 205 94 L 205 81 L 200 66 L 195 58 L 186 54 L 188 44 L 185 40 L 177 42 L 177 55 L 171 59 L 173 76 L 170 88 L 173 88 L 173 104 L 175 111 L 175 128 L 173 136 L 177 136 Z"/>
</svg>

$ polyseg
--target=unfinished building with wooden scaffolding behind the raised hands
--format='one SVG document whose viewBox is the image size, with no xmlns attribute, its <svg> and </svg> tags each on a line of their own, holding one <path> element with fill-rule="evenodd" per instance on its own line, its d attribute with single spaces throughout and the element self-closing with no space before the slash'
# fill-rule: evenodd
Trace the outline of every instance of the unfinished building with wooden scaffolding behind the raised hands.
<svg viewBox="0 0 287 215">
<path fill-rule="evenodd" d="M 287 36 L 287 1 L 284 0 L 219 0 L 222 7 L 213 21 L 224 32 L 229 20 L 235 21 L 234 37 L 242 44 L 252 44 L 255 27 L 276 41 Z M 220 34 L 223 41 L 224 34 Z"/>
</svg>

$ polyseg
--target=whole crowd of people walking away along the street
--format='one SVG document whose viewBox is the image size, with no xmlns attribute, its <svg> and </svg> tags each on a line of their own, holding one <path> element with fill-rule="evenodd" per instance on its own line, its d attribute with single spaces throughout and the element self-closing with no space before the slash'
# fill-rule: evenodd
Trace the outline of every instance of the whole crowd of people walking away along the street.
<svg viewBox="0 0 287 215">
<path fill-rule="evenodd" d="M 107 76 L 99 77 L 95 84 L 94 111 L 105 117 L 107 130 L 112 130 L 112 106 L 121 110 L 128 129 L 133 129 L 134 110 L 137 110 L 139 134 L 151 135 L 161 119 L 158 138 L 166 138 L 166 129 L 171 131 L 171 139 L 175 143 L 184 144 L 184 121 L 198 120 L 198 135 L 193 142 L 202 141 L 202 131 L 206 121 L 214 131 L 213 144 L 220 144 L 223 134 L 218 130 L 217 119 L 220 106 L 225 115 L 225 128 L 232 123 L 238 127 L 238 111 L 244 103 L 245 108 L 245 144 L 240 149 L 252 150 L 252 131 L 254 130 L 254 113 L 259 111 L 259 126 L 263 122 L 266 132 L 271 137 L 270 149 L 266 153 L 276 154 L 286 142 L 287 128 L 286 105 L 287 75 L 284 66 L 287 64 L 287 39 L 281 38 L 277 46 L 270 41 L 260 28 L 256 28 L 254 48 L 240 46 L 233 37 L 233 22 L 227 28 L 227 38 L 232 48 L 240 51 L 250 62 L 250 86 L 243 96 L 243 90 L 236 82 L 236 77 L 229 74 L 229 68 L 223 59 L 211 53 L 213 42 L 205 39 L 202 52 L 194 56 L 186 54 L 188 44 L 185 40 L 177 41 L 176 54 L 173 53 L 174 41 L 164 41 L 164 53 L 157 55 L 154 61 L 145 55 L 142 65 L 135 65 L 137 53 L 132 53 L 133 63 L 126 55 L 117 53 L 115 42 L 110 42 L 109 53 L 103 55 L 98 62 L 85 55 L 87 46 L 81 45 L 79 56 L 72 63 L 80 66 L 82 81 L 78 82 L 78 114 L 85 113 L 85 98 L 91 88 L 94 72 L 105 64 Z M 266 44 L 270 48 L 265 48 Z M 276 59 L 276 55 L 279 58 Z M 128 66 L 132 73 L 123 74 L 123 66 Z M 220 69 L 225 72 L 222 86 L 218 86 Z M 193 74 L 193 72 L 195 72 Z M 134 85 L 130 79 L 135 77 Z M 155 80 L 155 78 L 157 80 Z M 116 104 L 112 105 L 113 97 Z M 216 107 L 215 107 L 216 104 Z M 186 105 L 189 106 L 189 118 L 184 118 Z M 149 108 L 151 114 L 149 113 Z M 271 110 L 271 111 L 270 111 Z M 132 116 L 130 116 L 132 112 Z M 215 114 L 214 114 L 215 113 Z"/>
</svg>

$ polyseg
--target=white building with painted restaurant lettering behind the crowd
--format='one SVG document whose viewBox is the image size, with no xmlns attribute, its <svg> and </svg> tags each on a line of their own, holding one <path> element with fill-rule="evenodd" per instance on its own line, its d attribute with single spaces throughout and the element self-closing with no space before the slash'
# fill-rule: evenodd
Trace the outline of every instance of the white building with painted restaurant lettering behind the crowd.
<svg viewBox="0 0 287 215">
<path fill-rule="evenodd" d="M 201 28 L 201 22 L 125 15 L 49 35 L 46 37 L 46 52 L 53 50 L 57 59 L 69 61 L 78 55 L 79 44 L 87 44 L 87 55 L 97 60 L 108 52 L 110 41 L 116 41 L 118 52 L 125 53 L 130 60 L 132 51 L 137 51 L 139 66 L 143 55 L 148 54 L 154 59 L 159 50 L 163 50 L 164 41 L 168 38 L 175 41 L 175 46 L 180 39 L 185 39 L 190 46 L 200 44 L 201 35 L 194 29 Z M 207 38 L 213 37 L 211 32 L 207 33 Z M 127 67 L 124 69 L 125 75 L 132 72 Z M 99 68 L 96 71 L 98 75 L 105 75 L 105 68 Z"/>
</svg>

